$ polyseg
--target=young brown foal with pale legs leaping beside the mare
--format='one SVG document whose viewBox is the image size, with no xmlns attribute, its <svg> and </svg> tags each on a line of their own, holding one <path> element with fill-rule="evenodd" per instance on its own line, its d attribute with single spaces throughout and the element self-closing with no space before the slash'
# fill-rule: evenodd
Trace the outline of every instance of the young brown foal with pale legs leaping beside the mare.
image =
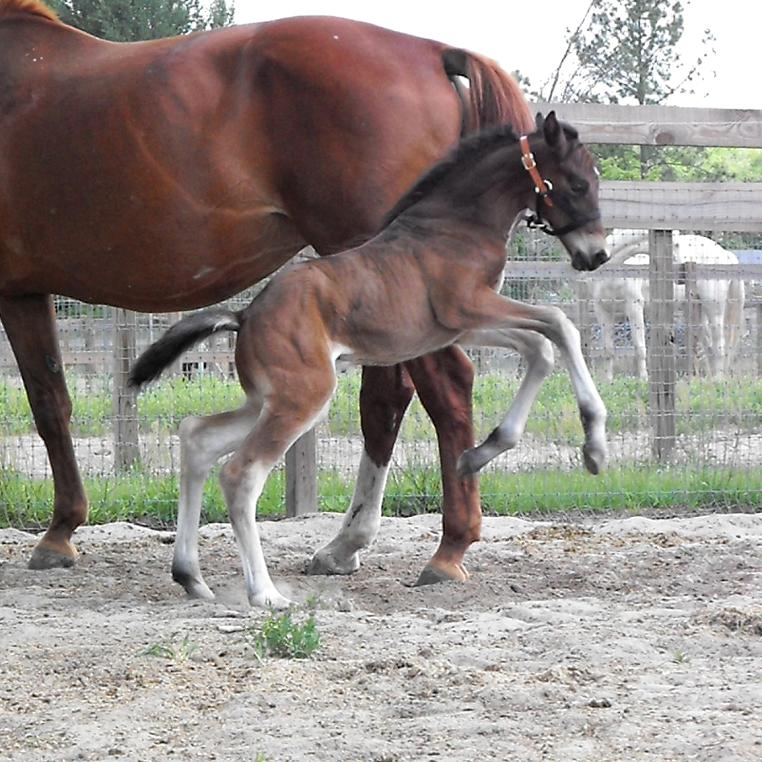
<svg viewBox="0 0 762 762">
<path fill-rule="evenodd" d="M 534 157 L 543 175 L 530 176 Z M 523 163 L 522 163 L 523 162 Z M 548 179 L 545 180 L 544 178 Z M 578 269 L 608 259 L 598 213 L 598 180 L 577 133 L 551 112 L 538 131 L 519 140 L 508 127 L 464 138 L 398 203 L 388 225 L 362 246 L 276 275 L 240 312 L 212 309 L 175 324 L 141 355 L 130 379 L 137 386 L 216 331 L 238 331 L 236 368 L 243 407 L 188 418 L 181 424 L 181 483 L 172 575 L 195 597 L 212 598 L 198 558 L 204 482 L 223 455 L 220 481 L 243 562 L 249 601 L 288 606 L 267 571 L 256 505 L 267 475 L 294 440 L 310 429 L 336 388 L 340 357 L 392 365 L 454 342 L 531 349 L 522 387 L 503 423 L 466 451 L 468 476 L 512 447 L 552 365 L 549 340 L 564 352 L 585 429 L 585 461 L 597 472 L 606 454 L 603 406 L 585 365 L 579 332 L 556 307 L 500 296 L 506 239 L 534 201 Z M 346 560 L 375 537 L 379 506 L 359 505 L 324 554 Z M 461 573 L 465 569 L 461 566 Z"/>
</svg>

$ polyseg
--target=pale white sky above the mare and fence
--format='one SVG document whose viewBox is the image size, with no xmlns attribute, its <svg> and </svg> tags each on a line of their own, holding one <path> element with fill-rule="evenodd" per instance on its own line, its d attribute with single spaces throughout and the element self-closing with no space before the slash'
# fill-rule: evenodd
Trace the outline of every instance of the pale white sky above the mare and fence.
<svg viewBox="0 0 762 762">
<path fill-rule="evenodd" d="M 420 37 L 430 37 L 494 58 L 518 69 L 540 87 L 555 70 L 569 28 L 576 28 L 589 0 L 236 0 L 236 22 L 284 16 L 329 15 L 369 21 Z M 683 0 L 685 32 L 680 55 L 693 61 L 703 30 L 715 36 L 715 55 L 704 68 L 695 94 L 675 96 L 674 106 L 762 109 L 759 66 L 762 7 L 757 0 Z M 753 10 L 755 9 L 756 10 Z M 542 23 L 544 22 L 544 27 Z M 754 59 L 757 59 L 755 62 Z M 713 76 L 714 74 L 714 76 Z"/>
</svg>

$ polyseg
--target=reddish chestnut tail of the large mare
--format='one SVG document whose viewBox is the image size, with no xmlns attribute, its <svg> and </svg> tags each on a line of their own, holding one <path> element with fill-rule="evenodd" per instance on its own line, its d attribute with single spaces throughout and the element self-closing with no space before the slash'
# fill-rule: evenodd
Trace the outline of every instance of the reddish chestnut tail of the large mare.
<svg viewBox="0 0 762 762">
<path fill-rule="evenodd" d="M 532 110 L 518 83 L 494 61 L 457 48 L 445 50 L 442 61 L 464 103 L 464 134 L 497 124 L 510 124 L 522 134 L 535 129 Z M 467 91 L 455 77 L 468 79 Z"/>
</svg>

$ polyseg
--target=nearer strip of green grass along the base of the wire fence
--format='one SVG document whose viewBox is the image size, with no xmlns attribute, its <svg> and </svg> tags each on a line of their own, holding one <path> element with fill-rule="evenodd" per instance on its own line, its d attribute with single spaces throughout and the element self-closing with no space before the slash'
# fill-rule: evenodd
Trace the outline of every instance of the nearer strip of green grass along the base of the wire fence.
<svg viewBox="0 0 762 762">
<path fill-rule="evenodd" d="M 649 509 L 762 510 L 762 471 L 759 469 L 623 468 L 590 476 L 582 471 L 487 472 L 480 479 L 482 508 L 494 515 L 545 515 L 556 512 L 640 511 Z M 177 480 L 131 474 L 86 483 L 91 508 L 89 523 L 133 521 L 171 527 L 177 509 Z M 318 478 L 321 510 L 343 511 L 354 481 L 321 472 Z M 52 483 L 0 471 L 0 526 L 41 528 L 50 519 Z M 442 505 L 438 468 L 392 471 L 384 499 L 387 516 L 438 512 Z M 267 482 L 257 515 L 281 517 L 283 476 Z M 228 521 L 216 479 L 207 482 L 205 522 Z"/>
</svg>

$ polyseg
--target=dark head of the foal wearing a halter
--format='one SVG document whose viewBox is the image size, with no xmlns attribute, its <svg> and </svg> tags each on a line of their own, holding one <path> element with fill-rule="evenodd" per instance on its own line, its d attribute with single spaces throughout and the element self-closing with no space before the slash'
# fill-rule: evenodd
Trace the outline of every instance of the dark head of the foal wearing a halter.
<svg viewBox="0 0 762 762">
<path fill-rule="evenodd" d="M 521 139 L 522 162 L 535 186 L 535 213 L 530 227 L 558 236 L 569 252 L 575 270 L 595 270 L 610 255 L 598 209 L 598 170 L 593 157 L 579 141 L 577 131 L 556 119 L 537 115 L 532 141 L 544 140 L 541 166 L 530 153 L 531 144 Z M 550 178 L 550 179 L 546 179 Z"/>
</svg>

